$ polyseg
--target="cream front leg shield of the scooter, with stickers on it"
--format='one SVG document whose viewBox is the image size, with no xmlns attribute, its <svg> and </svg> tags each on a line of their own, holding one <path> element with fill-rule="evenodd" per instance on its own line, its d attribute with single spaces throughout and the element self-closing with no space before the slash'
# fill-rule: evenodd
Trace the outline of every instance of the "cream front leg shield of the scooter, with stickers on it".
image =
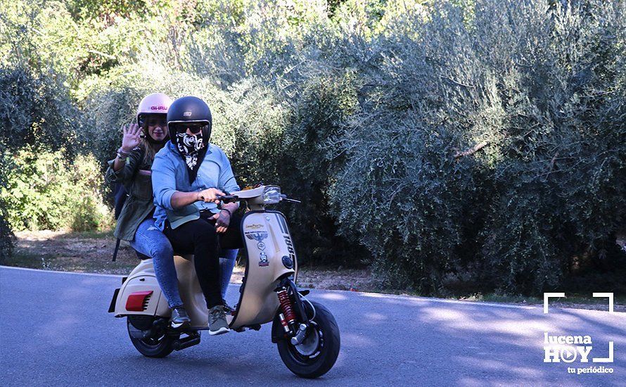
<svg viewBox="0 0 626 387">
<path fill-rule="evenodd" d="M 248 266 L 237 315 L 231 322 L 234 329 L 274 319 L 279 308 L 274 289 L 283 275 L 295 274 L 296 265 L 293 243 L 280 212 L 248 212 L 241 221 L 241 231 Z M 292 257 L 294 268 L 283 264 L 284 256 Z"/>
</svg>

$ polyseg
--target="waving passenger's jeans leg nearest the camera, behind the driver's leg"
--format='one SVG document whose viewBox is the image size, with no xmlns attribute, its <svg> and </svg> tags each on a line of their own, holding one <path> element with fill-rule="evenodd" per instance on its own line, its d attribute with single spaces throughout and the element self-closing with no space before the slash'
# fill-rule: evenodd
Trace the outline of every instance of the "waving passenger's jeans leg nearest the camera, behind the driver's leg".
<svg viewBox="0 0 626 387">
<path fill-rule="evenodd" d="M 148 217 L 139 224 L 130 246 L 139 253 L 152 258 L 154 273 L 170 307 L 183 305 L 178 291 L 178 278 L 174 267 L 174 250 L 167 236 Z"/>
</svg>

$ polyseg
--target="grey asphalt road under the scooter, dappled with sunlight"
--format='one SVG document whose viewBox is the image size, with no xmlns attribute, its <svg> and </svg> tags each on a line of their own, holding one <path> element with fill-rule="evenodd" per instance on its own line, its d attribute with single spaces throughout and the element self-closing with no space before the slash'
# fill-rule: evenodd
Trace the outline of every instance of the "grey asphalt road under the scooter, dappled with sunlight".
<svg viewBox="0 0 626 387">
<path fill-rule="evenodd" d="M 320 379 L 289 372 L 261 331 L 231 332 L 165 359 L 140 355 L 108 314 L 120 277 L 0 268 L 2 386 L 567 385 L 626 386 L 626 313 L 312 291 L 335 315 L 341 351 Z M 229 300 L 238 286 L 231 285 Z M 234 303 L 234 302 L 233 302 Z M 592 357 L 544 363 L 544 332 L 589 335 Z M 568 367 L 613 374 L 569 374 Z"/>
</svg>

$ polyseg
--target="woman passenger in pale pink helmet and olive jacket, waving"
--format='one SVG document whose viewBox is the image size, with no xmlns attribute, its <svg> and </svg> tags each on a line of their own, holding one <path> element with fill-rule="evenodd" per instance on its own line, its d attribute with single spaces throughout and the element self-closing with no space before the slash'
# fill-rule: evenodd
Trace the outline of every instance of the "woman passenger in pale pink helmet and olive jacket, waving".
<svg viewBox="0 0 626 387">
<path fill-rule="evenodd" d="M 117 227 L 115 236 L 129 241 L 141 259 L 152 258 L 155 274 L 172 309 L 172 327 L 189 326 L 189 317 L 179 295 L 173 251 L 170 242 L 154 226 L 151 165 L 157 153 L 170 139 L 167 129 L 167 110 L 172 99 L 165 94 L 149 94 L 137 108 L 138 124 L 124 127 L 122 146 L 117 157 L 108 162 L 106 181 L 120 186 L 122 194 L 116 196 Z M 119 212 L 118 212 L 119 209 Z M 117 248 L 116 248 L 117 253 Z M 226 293 L 237 250 L 220 252 L 220 272 Z"/>
</svg>

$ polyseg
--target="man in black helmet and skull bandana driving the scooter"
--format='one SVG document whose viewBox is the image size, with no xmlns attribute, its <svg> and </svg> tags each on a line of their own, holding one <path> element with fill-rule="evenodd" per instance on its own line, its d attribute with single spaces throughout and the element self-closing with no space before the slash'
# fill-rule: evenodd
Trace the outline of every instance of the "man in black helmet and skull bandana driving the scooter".
<svg viewBox="0 0 626 387">
<path fill-rule="evenodd" d="M 178 253 L 193 254 L 200 288 L 209 309 L 209 333 L 225 334 L 224 301 L 219 275 L 219 247 L 241 248 L 237 203 L 217 208 L 217 196 L 238 191 L 226 154 L 210 144 L 212 116 L 201 99 L 186 96 L 167 112 L 171 141 L 152 165 L 155 224 Z M 219 188 L 219 189 L 218 189 Z"/>
</svg>

